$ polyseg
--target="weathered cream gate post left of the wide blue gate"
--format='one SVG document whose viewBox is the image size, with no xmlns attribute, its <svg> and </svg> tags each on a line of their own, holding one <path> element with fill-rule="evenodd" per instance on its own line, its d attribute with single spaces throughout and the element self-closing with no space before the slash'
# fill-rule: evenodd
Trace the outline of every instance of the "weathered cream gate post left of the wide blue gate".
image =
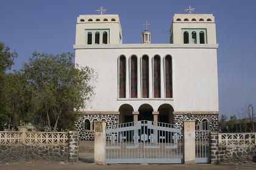
<svg viewBox="0 0 256 170">
<path fill-rule="evenodd" d="M 105 165 L 106 158 L 106 122 L 94 121 L 94 163 Z"/>
</svg>

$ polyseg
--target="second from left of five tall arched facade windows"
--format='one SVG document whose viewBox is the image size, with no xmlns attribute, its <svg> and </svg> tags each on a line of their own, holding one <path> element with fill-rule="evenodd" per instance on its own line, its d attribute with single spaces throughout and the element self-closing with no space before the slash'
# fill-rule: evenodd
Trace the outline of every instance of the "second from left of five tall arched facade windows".
<svg viewBox="0 0 256 170">
<path fill-rule="evenodd" d="M 129 87 L 130 87 L 130 98 L 138 97 L 138 56 L 135 54 L 129 57 Z"/>
</svg>

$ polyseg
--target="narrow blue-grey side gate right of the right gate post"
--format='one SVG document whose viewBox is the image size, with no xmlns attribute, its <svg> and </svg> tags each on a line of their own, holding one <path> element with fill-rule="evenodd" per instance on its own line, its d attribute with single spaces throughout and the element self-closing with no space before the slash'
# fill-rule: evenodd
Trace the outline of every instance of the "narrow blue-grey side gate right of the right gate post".
<svg viewBox="0 0 256 170">
<path fill-rule="evenodd" d="M 196 124 L 196 163 L 208 163 L 210 161 L 209 149 L 209 123 L 204 121 Z"/>
</svg>

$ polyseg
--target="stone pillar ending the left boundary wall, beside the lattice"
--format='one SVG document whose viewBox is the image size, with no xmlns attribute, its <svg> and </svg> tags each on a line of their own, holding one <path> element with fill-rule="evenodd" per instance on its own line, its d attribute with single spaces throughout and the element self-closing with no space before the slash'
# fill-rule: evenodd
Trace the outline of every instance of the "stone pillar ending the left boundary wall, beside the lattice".
<svg viewBox="0 0 256 170">
<path fill-rule="evenodd" d="M 78 132 L 68 132 L 68 161 L 78 161 Z"/>
</svg>

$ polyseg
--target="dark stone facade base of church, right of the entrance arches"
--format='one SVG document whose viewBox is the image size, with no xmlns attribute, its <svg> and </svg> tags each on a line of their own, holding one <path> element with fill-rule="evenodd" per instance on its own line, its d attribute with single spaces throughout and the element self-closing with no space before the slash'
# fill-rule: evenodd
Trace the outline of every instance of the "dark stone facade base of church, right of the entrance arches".
<svg viewBox="0 0 256 170">
<path fill-rule="evenodd" d="M 218 131 L 218 114 L 174 114 L 174 123 L 178 127 L 183 127 L 185 120 L 198 120 L 201 123 L 203 120 L 208 120 L 210 131 Z"/>
</svg>

